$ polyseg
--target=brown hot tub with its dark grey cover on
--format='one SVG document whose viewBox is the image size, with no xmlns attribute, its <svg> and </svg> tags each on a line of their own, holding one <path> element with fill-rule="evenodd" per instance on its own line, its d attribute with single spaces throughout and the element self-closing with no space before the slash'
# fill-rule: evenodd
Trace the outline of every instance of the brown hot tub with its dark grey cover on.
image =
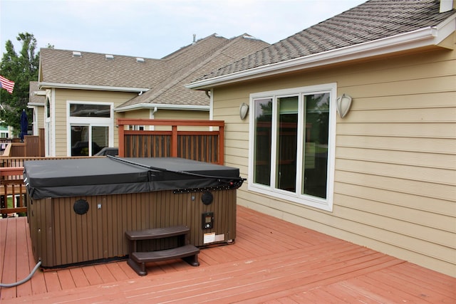
<svg viewBox="0 0 456 304">
<path fill-rule="evenodd" d="M 237 168 L 180 158 L 48 159 L 24 162 L 24 182 L 43 268 L 125 257 L 125 231 L 185 225 L 198 247 L 236 238 Z"/>
</svg>

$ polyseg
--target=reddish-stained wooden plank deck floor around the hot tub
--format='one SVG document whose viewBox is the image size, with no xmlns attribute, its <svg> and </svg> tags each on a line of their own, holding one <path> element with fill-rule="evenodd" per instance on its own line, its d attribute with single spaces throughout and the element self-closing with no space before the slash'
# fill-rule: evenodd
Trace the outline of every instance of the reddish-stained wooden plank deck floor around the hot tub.
<svg viewBox="0 0 456 304">
<path fill-rule="evenodd" d="M 199 267 L 125 261 L 37 271 L 0 288 L 7 303 L 456 303 L 456 278 L 238 207 L 234 244 L 203 248 Z M 26 218 L 0 219 L 0 278 L 35 262 Z"/>
</svg>

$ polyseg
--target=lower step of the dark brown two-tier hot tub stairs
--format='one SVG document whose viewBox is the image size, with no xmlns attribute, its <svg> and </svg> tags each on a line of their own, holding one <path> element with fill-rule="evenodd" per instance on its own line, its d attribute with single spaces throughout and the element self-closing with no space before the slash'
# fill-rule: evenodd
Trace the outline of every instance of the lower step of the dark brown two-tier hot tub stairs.
<svg viewBox="0 0 456 304">
<path fill-rule="evenodd" d="M 199 248 L 193 245 L 184 245 L 177 248 L 171 248 L 158 251 L 133 252 L 128 259 L 128 265 L 133 268 L 140 276 L 147 275 L 145 263 L 173 260 L 182 258 L 192 266 L 199 266 L 198 262 Z"/>
</svg>

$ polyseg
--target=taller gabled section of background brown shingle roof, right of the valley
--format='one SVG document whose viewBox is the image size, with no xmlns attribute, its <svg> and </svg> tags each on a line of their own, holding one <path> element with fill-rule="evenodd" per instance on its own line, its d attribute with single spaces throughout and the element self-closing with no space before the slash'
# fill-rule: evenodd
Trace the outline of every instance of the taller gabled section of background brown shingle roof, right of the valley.
<svg viewBox="0 0 456 304">
<path fill-rule="evenodd" d="M 200 44 L 212 47 L 202 48 Z M 209 106 L 209 98 L 204 92 L 188 90 L 184 85 L 266 46 L 269 46 L 269 43 L 255 39 L 248 34 L 231 39 L 217 35 L 208 36 L 188 46 L 185 52 L 178 51 L 163 58 L 170 65 L 179 68 L 171 68 L 170 70 L 175 72 L 163 78 L 161 83 L 142 95 L 128 100 L 118 108 L 145 103 Z"/>
</svg>

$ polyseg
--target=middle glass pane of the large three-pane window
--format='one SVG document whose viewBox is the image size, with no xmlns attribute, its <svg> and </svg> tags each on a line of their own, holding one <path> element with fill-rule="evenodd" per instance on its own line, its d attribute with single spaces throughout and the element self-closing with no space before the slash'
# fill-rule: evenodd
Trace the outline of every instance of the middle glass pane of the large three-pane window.
<svg viewBox="0 0 456 304">
<path fill-rule="evenodd" d="M 276 188 L 296 192 L 298 96 L 278 98 Z"/>
</svg>

